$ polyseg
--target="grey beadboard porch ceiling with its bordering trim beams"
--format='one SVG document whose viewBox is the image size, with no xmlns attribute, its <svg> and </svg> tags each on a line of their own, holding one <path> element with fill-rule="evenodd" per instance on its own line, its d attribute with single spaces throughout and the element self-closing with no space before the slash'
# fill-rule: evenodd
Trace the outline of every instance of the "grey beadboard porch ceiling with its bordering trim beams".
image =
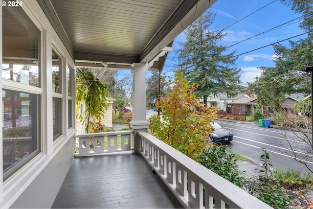
<svg viewBox="0 0 313 209">
<path fill-rule="evenodd" d="M 118 69 L 150 63 L 215 1 L 37 0 L 76 65 Z"/>
</svg>

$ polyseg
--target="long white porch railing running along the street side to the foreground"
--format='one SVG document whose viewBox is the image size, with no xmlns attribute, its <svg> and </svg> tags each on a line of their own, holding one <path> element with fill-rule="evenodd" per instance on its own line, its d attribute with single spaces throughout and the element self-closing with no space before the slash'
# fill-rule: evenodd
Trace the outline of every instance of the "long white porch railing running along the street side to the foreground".
<svg viewBox="0 0 313 209">
<path fill-rule="evenodd" d="M 270 208 L 147 132 L 137 134 L 141 155 L 186 208 Z"/>
</svg>

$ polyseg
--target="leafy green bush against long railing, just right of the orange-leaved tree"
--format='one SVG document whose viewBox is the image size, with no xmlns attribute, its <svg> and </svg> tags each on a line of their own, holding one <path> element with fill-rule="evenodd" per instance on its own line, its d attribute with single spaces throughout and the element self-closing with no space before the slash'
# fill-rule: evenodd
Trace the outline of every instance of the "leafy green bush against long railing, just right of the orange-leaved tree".
<svg viewBox="0 0 313 209">
<path fill-rule="evenodd" d="M 212 144 L 201 155 L 200 163 L 236 186 L 243 186 L 245 177 L 236 163 L 235 154 L 225 146 Z"/>
</svg>

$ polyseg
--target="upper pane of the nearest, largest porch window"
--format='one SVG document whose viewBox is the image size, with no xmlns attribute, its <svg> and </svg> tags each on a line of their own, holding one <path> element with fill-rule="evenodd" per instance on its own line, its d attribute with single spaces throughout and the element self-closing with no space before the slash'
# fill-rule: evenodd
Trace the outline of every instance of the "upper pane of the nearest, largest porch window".
<svg viewBox="0 0 313 209">
<path fill-rule="evenodd" d="M 40 87 L 40 34 L 22 7 L 2 7 L 2 78 Z"/>
</svg>

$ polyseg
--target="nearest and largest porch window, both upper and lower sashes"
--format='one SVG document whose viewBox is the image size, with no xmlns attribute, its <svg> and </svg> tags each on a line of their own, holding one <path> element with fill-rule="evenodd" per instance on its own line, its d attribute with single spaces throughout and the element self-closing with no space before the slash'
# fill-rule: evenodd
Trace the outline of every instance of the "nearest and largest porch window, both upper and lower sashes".
<svg viewBox="0 0 313 209">
<path fill-rule="evenodd" d="M 2 7 L 3 181 L 42 150 L 40 43 L 22 7 Z"/>
</svg>

